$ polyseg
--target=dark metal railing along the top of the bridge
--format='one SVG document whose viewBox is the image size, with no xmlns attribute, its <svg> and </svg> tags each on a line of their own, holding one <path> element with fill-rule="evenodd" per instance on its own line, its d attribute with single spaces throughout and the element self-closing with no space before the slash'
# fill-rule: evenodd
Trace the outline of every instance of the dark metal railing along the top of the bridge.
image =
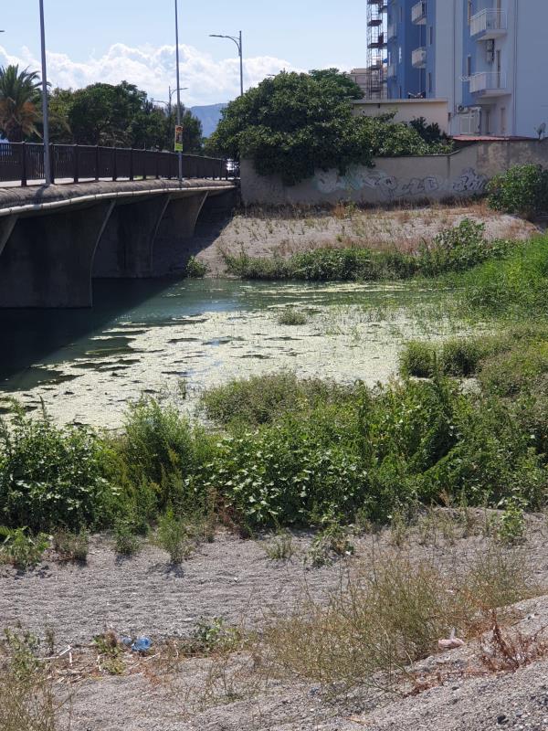
<svg viewBox="0 0 548 731">
<path fill-rule="evenodd" d="M 177 178 L 179 157 L 176 153 L 153 150 L 133 150 L 125 147 L 99 147 L 83 144 L 51 144 L 51 179 L 127 180 L 147 178 Z M 213 180 L 235 178 L 237 164 L 221 158 L 183 155 L 185 178 Z M 45 179 L 44 146 L 37 143 L 0 143 L 0 182 L 20 182 Z"/>
</svg>

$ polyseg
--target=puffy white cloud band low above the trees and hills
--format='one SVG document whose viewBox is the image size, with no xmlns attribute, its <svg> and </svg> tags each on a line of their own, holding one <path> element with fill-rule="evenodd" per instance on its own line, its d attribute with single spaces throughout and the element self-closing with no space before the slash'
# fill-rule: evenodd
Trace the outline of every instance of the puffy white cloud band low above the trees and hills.
<svg viewBox="0 0 548 731">
<path fill-rule="evenodd" d="M 235 48 L 236 50 L 236 48 Z M 186 106 L 212 104 L 234 99 L 239 92 L 239 61 L 224 58 L 216 61 L 192 46 L 181 46 L 181 86 Z M 23 68 L 40 69 L 40 63 L 28 48 L 21 48 L 17 56 L 8 54 L 0 46 L 0 66 L 19 64 Z M 255 86 L 268 74 L 280 69 L 292 69 L 282 58 L 260 56 L 244 59 L 246 88 Z M 73 61 L 64 53 L 47 53 L 47 76 L 53 86 L 78 89 L 97 81 L 111 84 L 122 79 L 135 84 L 154 99 L 167 101 L 168 88 L 175 86 L 175 47 L 130 48 L 116 43 L 100 58 L 91 56 L 87 61 Z"/>
</svg>

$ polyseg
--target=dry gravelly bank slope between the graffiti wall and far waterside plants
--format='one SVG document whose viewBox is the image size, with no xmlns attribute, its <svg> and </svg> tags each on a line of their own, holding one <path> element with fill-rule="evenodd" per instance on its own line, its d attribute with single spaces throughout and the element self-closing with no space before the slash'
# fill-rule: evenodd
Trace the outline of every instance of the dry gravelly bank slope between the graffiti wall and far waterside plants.
<svg viewBox="0 0 548 731">
<path fill-rule="evenodd" d="M 205 262 L 209 276 L 225 274 L 223 252 L 250 256 L 290 256 L 321 247 L 359 246 L 412 251 L 443 228 L 463 218 L 484 223 L 489 238 L 528 238 L 537 232 L 521 218 L 498 214 L 484 203 L 469 206 L 432 206 L 383 210 L 268 211 L 249 209 L 217 224 L 196 228 L 193 253 Z"/>
</svg>

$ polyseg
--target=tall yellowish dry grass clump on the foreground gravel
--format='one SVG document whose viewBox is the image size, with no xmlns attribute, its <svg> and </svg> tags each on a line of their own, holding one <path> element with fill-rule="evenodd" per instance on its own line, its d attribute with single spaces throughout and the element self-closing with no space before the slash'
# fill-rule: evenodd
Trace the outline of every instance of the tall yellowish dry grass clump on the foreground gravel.
<svg viewBox="0 0 548 731">
<path fill-rule="evenodd" d="M 332 688 L 386 689 L 413 662 L 437 652 L 437 641 L 452 630 L 476 637 L 492 609 L 532 592 L 522 556 L 499 546 L 460 575 L 388 553 L 342 580 L 327 603 L 309 597 L 290 616 L 272 619 L 265 641 L 281 673 Z"/>
</svg>

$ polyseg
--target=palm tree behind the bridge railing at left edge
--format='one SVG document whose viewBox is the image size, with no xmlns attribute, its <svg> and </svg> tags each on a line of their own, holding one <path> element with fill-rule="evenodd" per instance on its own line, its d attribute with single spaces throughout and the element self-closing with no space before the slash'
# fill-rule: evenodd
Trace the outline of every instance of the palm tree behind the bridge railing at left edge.
<svg viewBox="0 0 548 731">
<path fill-rule="evenodd" d="M 40 79 L 36 71 L 0 67 L 0 132 L 13 143 L 37 133 Z"/>
</svg>

